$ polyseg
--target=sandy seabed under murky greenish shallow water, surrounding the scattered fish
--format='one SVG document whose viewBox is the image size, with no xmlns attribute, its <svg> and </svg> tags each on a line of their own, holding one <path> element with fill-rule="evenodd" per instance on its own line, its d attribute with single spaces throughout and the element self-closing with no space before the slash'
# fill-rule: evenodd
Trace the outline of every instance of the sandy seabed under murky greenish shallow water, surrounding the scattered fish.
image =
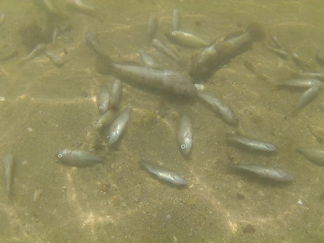
<svg viewBox="0 0 324 243">
<path fill-rule="evenodd" d="M 57 67 L 41 54 L 25 64 L 29 50 L 20 30 L 46 28 L 47 12 L 37 1 L 1 1 L 6 14 L 0 25 L 0 54 L 18 55 L 0 62 L 0 156 L 15 157 L 13 196 L 0 187 L 1 242 L 319 242 L 324 239 L 324 168 L 295 152 L 297 146 L 322 148 L 323 94 L 294 113 L 303 90 L 278 89 L 273 82 L 300 71 L 292 59 L 282 60 L 263 45 L 232 58 L 202 83 L 236 112 L 237 127 L 196 98 L 124 83 L 123 109 L 133 111 L 117 148 L 109 149 L 98 134 L 95 95 L 109 89 L 113 75 L 95 70 L 95 54 L 85 32 L 98 34 L 102 51 L 118 62 L 141 62 L 137 50 L 156 56 L 166 69 L 188 72 L 199 50 L 170 44 L 172 13 L 182 15 L 181 30 L 213 42 L 260 22 L 285 50 L 297 52 L 319 72 L 314 60 L 324 49 L 321 1 L 103 1 L 85 0 L 95 16 L 67 10 L 58 18 L 56 45 L 48 50 L 64 58 Z M 54 1 L 53 1 L 54 2 Z M 146 36 L 150 15 L 158 18 L 157 37 L 177 51 L 183 64 L 155 52 Z M 64 54 L 63 49 L 67 52 Z M 244 63 L 252 63 L 268 79 L 259 79 Z M 185 159 L 176 141 L 179 115 L 193 127 L 193 148 Z M 278 153 L 255 153 L 226 142 L 226 133 L 264 139 Z M 107 158 L 105 165 L 72 168 L 57 163 L 55 154 L 71 148 Z M 145 159 L 171 168 L 189 182 L 177 188 L 156 179 L 138 164 Z M 232 171 L 227 163 L 262 164 L 292 174 L 280 184 Z M 249 230 L 252 225 L 254 230 Z M 248 227 L 247 227 L 248 226 Z M 251 227 L 250 227 L 251 228 Z M 247 232 L 249 231 L 249 232 Z"/>
</svg>

